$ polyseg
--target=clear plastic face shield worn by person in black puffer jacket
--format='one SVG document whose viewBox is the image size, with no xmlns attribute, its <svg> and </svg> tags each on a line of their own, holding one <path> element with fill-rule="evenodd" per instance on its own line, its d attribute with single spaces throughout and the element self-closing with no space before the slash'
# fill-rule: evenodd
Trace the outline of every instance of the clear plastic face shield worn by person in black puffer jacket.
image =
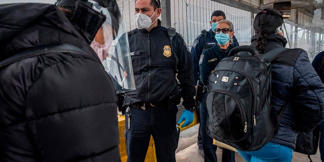
<svg viewBox="0 0 324 162">
<path fill-rule="evenodd" d="M 111 77 L 117 94 L 135 90 L 133 66 L 130 55 L 125 14 L 119 9 L 119 29 L 112 27 L 112 15 L 107 8 L 101 7 L 97 2 L 89 0 L 93 9 L 106 16 L 106 21 L 99 29 L 97 35 L 103 36 L 104 44 L 98 43 L 97 39 L 91 44 L 92 48 L 101 59 L 105 70 Z M 100 34 L 102 32 L 102 34 Z M 97 36 L 96 36 L 97 37 Z M 101 38 L 102 40 L 102 38 Z"/>
</svg>

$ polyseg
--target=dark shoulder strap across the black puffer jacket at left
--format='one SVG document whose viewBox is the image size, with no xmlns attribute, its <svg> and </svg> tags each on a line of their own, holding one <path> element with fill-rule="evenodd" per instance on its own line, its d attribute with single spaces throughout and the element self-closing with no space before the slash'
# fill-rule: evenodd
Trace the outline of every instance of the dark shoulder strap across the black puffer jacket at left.
<svg viewBox="0 0 324 162">
<path fill-rule="evenodd" d="M 44 55 L 44 54 L 49 54 L 49 53 L 86 53 L 84 50 L 70 45 L 70 44 L 62 44 L 62 45 L 48 45 L 48 46 L 40 46 L 40 47 L 35 47 L 35 48 L 30 48 L 28 50 L 25 50 L 17 55 L 14 55 L 12 57 L 9 57 L 3 61 L 0 62 L 0 67 L 4 67 L 6 65 L 12 64 L 14 62 L 34 57 L 34 56 L 39 56 L 39 55 Z"/>
</svg>

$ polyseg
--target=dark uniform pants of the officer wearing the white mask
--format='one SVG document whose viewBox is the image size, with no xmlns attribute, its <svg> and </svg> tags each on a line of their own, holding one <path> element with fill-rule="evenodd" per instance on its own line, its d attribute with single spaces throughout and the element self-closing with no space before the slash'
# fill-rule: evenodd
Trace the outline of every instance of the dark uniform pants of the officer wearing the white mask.
<svg viewBox="0 0 324 162">
<path fill-rule="evenodd" d="M 144 162 L 151 135 L 154 139 L 156 159 L 158 162 L 176 161 L 175 132 L 178 108 L 172 105 L 147 106 L 145 110 L 131 107 L 131 124 L 128 129 L 128 117 L 125 120 L 125 139 L 128 162 Z"/>
</svg>

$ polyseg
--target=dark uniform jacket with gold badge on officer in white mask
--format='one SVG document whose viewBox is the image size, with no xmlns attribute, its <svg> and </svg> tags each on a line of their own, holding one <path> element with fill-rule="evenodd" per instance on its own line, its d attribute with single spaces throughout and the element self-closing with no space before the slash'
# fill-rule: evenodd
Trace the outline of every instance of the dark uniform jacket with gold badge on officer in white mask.
<svg viewBox="0 0 324 162">
<path fill-rule="evenodd" d="M 134 29 L 128 36 L 136 90 L 128 92 L 127 98 L 133 103 L 154 103 L 177 95 L 176 63 L 167 28 L 158 20 L 158 26 L 149 32 Z M 178 33 L 173 37 L 173 46 L 179 59 L 177 78 L 182 87 L 182 104 L 191 108 L 194 106 L 191 54 Z"/>
</svg>

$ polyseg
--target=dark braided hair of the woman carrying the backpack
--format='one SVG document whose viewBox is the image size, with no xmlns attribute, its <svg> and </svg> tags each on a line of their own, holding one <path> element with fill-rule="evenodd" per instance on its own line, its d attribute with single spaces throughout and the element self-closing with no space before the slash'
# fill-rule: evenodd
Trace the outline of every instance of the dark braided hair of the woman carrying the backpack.
<svg viewBox="0 0 324 162">
<path fill-rule="evenodd" d="M 268 34 L 276 33 L 276 29 L 284 23 L 281 14 L 275 9 L 264 9 L 253 20 L 254 31 L 258 34 L 256 49 L 260 54 L 268 40 Z"/>
</svg>

